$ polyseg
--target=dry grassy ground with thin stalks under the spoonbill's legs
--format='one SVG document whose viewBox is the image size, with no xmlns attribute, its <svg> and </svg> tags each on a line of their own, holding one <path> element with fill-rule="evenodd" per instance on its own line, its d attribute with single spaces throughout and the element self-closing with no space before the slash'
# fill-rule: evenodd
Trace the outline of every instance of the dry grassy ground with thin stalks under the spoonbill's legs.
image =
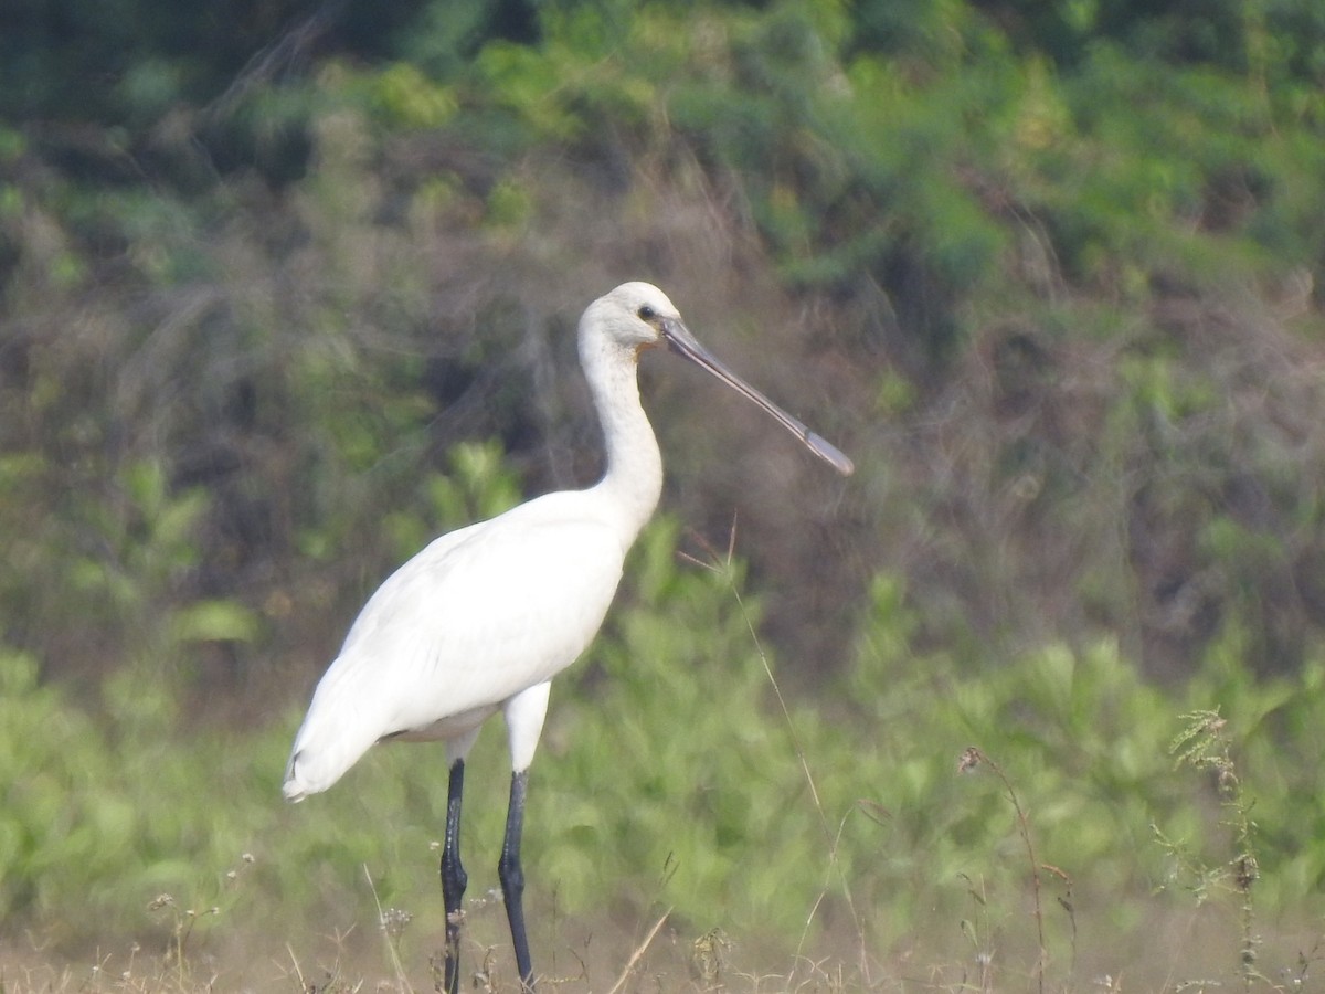
<svg viewBox="0 0 1325 994">
<path fill-rule="evenodd" d="M 1228 901 L 1198 905 L 1134 895 L 1101 907 L 1090 895 L 1045 885 L 1039 921 L 1030 888 L 1004 907 L 982 893 L 979 880 L 963 883 L 965 914 L 935 914 L 908 934 L 864 941 L 845 908 L 831 900 L 807 901 L 807 916 L 818 916 L 824 928 L 800 942 L 733 936 L 657 907 L 572 918 L 535 901 L 535 969 L 542 990 L 567 994 L 1287 991 L 1318 989 L 1325 970 L 1320 922 L 1302 916 L 1252 921 L 1253 958 L 1244 962 L 1246 922 Z M 362 887 L 371 891 L 366 880 Z M 274 895 L 256 897 L 278 904 Z M 76 953 L 57 953 L 33 933 L 11 936 L 0 952 L 0 990 L 331 994 L 440 987 L 437 908 L 383 908 L 378 921 L 346 914 L 302 922 L 272 914 L 262 929 L 211 909 L 164 905 L 154 913 L 158 928 L 140 938 Z M 473 896 L 466 913 L 464 989 L 518 991 L 500 897 Z M 721 920 L 721 909 L 714 917 Z M 121 930 L 107 924 L 107 934 Z"/>
</svg>

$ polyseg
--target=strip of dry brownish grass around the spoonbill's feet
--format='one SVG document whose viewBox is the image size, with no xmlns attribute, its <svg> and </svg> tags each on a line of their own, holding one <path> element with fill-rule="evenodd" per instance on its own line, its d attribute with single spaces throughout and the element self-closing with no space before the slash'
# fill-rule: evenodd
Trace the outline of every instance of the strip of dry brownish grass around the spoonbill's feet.
<svg viewBox="0 0 1325 994">
<path fill-rule="evenodd" d="M 539 990 L 543 994 L 994 994 L 1036 990 L 1043 979 L 1045 990 L 1052 991 L 1218 994 L 1242 982 L 1240 975 L 1227 969 L 1230 954 L 1236 956 L 1239 946 L 1236 921 L 1219 921 L 1187 909 L 1147 920 L 1141 929 L 1143 938 L 1128 942 L 1110 942 L 1092 922 L 1083 934 L 1083 944 L 1090 948 L 1083 950 L 1072 971 L 1061 958 L 1064 950 L 1049 949 L 1043 960 L 1036 958 L 1034 925 L 1024 914 L 1019 920 L 1020 934 L 1004 928 L 1003 912 L 980 896 L 979 881 L 971 881 L 971 908 L 970 918 L 935 922 L 931 934 L 908 937 L 886 958 L 872 958 L 868 979 L 853 964 L 856 953 L 849 941 L 841 950 L 845 958 L 836 953 L 798 957 L 757 941 L 733 940 L 721 929 L 682 932 L 662 914 L 648 921 L 637 937 L 625 930 L 613 933 L 607 920 L 599 922 L 600 928 L 576 922 L 564 929 L 563 938 L 574 937 L 572 941 L 549 953 L 541 964 Z M 415 994 L 437 989 L 439 973 L 427 953 L 405 954 L 386 933 L 366 933 L 323 936 L 314 946 L 305 944 L 302 952 L 295 952 L 295 941 L 286 944 L 278 934 L 235 934 L 209 944 L 184 962 L 168 950 L 138 944 L 64 960 L 20 940 L 7 942 L 0 954 L 0 991 Z M 946 942 L 938 933 L 958 941 Z M 949 949 L 935 952 L 937 944 Z M 440 948 L 440 938 L 436 945 Z M 1249 989 L 1318 989 L 1314 982 L 1325 960 L 1318 930 L 1268 938 L 1261 953 L 1263 961 L 1284 966 L 1273 975 L 1257 975 Z M 464 990 L 519 993 L 505 946 L 469 941 L 465 957 Z"/>
</svg>

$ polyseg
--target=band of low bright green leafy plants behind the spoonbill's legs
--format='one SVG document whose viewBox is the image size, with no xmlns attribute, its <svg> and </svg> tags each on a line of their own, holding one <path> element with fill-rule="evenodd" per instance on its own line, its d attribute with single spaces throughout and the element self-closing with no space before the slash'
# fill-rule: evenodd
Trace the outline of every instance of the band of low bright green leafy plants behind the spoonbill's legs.
<svg viewBox="0 0 1325 994">
<path fill-rule="evenodd" d="M 494 480 L 480 470 L 458 485 L 481 493 Z M 1147 920 L 1154 887 L 1252 844 L 1252 812 L 1257 907 L 1298 907 L 1320 887 L 1321 812 L 1309 798 L 1322 785 L 1306 761 L 1320 667 L 1261 687 L 1236 648 L 1212 656 L 1186 698 L 1228 718 L 1185 733 L 1182 755 L 1231 770 L 1236 754 L 1236 774 L 1202 783 L 1173 763 L 1174 698 L 1116 645 L 1047 647 L 963 675 L 917 649 L 904 588 L 881 575 L 836 694 L 851 704 L 782 713 L 742 565 L 680 563 L 677 534 L 666 517 L 647 529 L 623 603 L 556 685 L 530 793 L 535 907 L 643 920 L 657 903 L 686 930 L 811 946 L 816 922 L 847 916 L 872 949 L 935 914 L 955 921 L 979 881 L 986 928 L 1015 934 L 1018 917 L 998 909 L 1030 893 L 1030 832 L 1036 857 L 1055 868 L 1041 880 L 1045 905 L 1065 885 L 1068 899 L 1112 908 L 1097 928 L 1128 934 Z M 335 790 L 288 808 L 277 785 L 295 713 L 246 736 L 197 728 L 183 720 L 176 683 L 125 671 L 107 681 L 105 721 L 94 720 L 12 651 L 0 680 L 7 914 L 62 936 L 111 914 L 142 934 L 170 925 L 150 904 L 219 909 L 189 925 L 195 944 L 240 928 L 237 914 L 343 928 L 375 920 L 380 904 L 409 908 L 421 928 L 440 921 L 429 850 L 445 806 L 437 749 L 376 749 Z M 986 765 L 961 771 L 971 745 L 998 777 Z M 481 895 L 504 816 L 500 736 L 485 734 L 473 759 L 466 863 Z M 1210 812 L 1214 799 L 1234 803 L 1230 775 L 1231 839 Z M 236 867 L 242 888 L 232 885 Z M 265 893 L 280 895 L 276 908 L 260 907 Z M 126 908 L 143 911 L 126 917 Z M 163 937 L 182 942 L 175 917 Z M 1047 914 L 1045 926 L 1041 941 L 1060 941 L 1061 921 Z"/>
</svg>

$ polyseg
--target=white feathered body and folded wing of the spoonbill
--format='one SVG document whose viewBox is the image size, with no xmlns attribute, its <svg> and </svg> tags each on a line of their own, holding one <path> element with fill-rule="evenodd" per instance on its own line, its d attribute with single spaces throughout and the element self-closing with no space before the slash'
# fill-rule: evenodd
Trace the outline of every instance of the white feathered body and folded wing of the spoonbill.
<svg viewBox="0 0 1325 994">
<path fill-rule="evenodd" d="M 380 738 L 462 737 L 583 652 L 624 549 L 602 520 L 574 508 L 556 516 L 558 504 L 586 504 L 570 496 L 443 535 L 382 584 L 318 684 L 289 799 L 326 790 Z M 514 769 L 533 758 L 522 751 Z"/>
</svg>

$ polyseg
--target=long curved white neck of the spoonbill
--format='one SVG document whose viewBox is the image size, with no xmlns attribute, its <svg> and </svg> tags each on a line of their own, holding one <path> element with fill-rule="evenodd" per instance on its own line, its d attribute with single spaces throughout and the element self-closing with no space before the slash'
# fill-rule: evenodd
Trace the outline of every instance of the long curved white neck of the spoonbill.
<svg viewBox="0 0 1325 994">
<path fill-rule="evenodd" d="M 662 456 L 640 406 L 635 353 L 600 343 L 582 350 L 594 406 L 607 447 L 607 472 L 592 488 L 629 546 L 653 514 L 662 493 Z"/>
</svg>

